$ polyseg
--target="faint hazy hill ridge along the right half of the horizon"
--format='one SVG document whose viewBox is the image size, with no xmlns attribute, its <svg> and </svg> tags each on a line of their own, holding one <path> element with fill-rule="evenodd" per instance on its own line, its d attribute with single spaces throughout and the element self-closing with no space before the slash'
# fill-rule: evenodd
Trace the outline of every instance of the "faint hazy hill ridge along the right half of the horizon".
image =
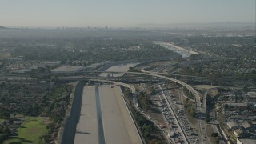
<svg viewBox="0 0 256 144">
<path fill-rule="evenodd" d="M 210 23 L 169 23 L 154 24 L 142 23 L 135 27 L 142 28 L 207 28 L 207 27 L 255 27 L 254 22 L 210 22 Z"/>
</svg>

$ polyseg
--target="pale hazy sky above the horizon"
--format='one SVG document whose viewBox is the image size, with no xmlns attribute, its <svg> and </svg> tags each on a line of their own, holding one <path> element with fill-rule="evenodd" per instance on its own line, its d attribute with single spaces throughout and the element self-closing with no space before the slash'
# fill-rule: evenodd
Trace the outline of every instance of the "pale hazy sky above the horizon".
<svg viewBox="0 0 256 144">
<path fill-rule="evenodd" d="M 255 22 L 255 0 L 0 0 L 0 26 Z"/>
</svg>

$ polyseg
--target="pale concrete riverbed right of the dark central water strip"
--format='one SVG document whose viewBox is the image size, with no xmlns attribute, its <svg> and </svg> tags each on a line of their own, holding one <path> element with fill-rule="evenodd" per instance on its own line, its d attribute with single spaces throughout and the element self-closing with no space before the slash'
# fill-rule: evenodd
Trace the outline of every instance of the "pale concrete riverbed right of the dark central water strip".
<svg viewBox="0 0 256 144">
<path fill-rule="evenodd" d="M 119 87 L 99 87 L 106 143 L 142 143 Z"/>
</svg>

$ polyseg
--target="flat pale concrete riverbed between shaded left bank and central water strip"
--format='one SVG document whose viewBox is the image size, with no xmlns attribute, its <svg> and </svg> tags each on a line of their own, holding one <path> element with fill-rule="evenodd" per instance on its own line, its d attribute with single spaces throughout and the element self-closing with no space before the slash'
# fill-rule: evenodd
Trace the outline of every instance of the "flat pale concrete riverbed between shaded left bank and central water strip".
<svg viewBox="0 0 256 144">
<path fill-rule="evenodd" d="M 84 87 L 81 114 L 76 129 L 74 143 L 98 143 L 98 121 L 95 86 Z"/>
</svg>

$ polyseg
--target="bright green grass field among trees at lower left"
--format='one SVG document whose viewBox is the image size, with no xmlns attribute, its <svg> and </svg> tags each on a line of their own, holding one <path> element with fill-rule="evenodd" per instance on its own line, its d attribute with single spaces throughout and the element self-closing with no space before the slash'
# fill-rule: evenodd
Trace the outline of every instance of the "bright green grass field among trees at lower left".
<svg viewBox="0 0 256 144">
<path fill-rule="evenodd" d="M 46 134 L 45 118 L 26 117 L 22 126 L 18 129 L 18 136 L 9 138 L 4 144 L 38 143 L 39 137 Z"/>
</svg>

